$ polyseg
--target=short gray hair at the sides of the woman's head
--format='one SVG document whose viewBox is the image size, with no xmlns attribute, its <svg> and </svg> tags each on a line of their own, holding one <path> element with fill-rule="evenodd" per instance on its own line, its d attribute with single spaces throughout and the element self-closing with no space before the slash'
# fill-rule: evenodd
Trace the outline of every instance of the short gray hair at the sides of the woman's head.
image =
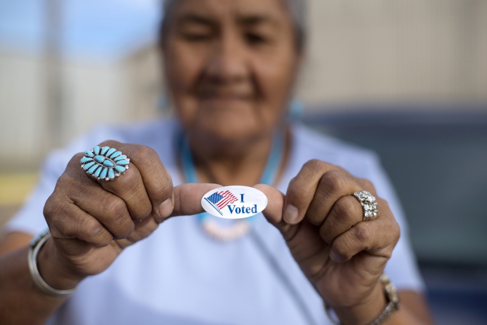
<svg viewBox="0 0 487 325">
<path fill-rule="evenodd" d="M 294 28 L 295 28 L 295 35 L 296 35 L 296 45 L 298 47 L 298 51 L 302 51 L 304 48 L 304 43 L 306 40 L 306 2 L 307 0 L 285 0 L 287 3 L 287 7 L 289 13 L 291 15 L 291 19 L 293 19 Z M 162 24 L 160 29 L 160 40 L 161 44 L 164 42 L 165 33 L 167 31 L 167 17 L 169 17 L 174 4 L 177 0 L 163 0 L 163 17 L 162 17 Z"/>
</svg>

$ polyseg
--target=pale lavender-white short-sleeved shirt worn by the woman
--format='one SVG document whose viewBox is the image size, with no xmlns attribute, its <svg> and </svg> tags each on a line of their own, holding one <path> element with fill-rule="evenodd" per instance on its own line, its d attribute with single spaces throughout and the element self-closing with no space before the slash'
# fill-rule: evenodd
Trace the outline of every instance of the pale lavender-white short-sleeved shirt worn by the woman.
<svg viewBox="0 0 487 325">
<path fill-rule="evenodd" d="M 75 153 L 107 139 L 153 148 L 171 173 L 174 186 L 181 184 L 175 157 L 177 128 L 179 124 L 172 119 L 130 127 L 100 126 L 66 149 L 53 152 L 36 189 L 5 230 L 36 235 L 45 229 L 44 204 L 68 161 Z M 377 156 L 299 124 L 292 126 L 292 134 L 290 159 L 278 189 L 285 193 L 290 179 L 313 158 L 371 180 L 401 228 L 385 272 L 398 289 L 423 290 L 403 211 Z M 78 292 L 48 324 L 329 324 L 321 298 L 292 258 L 280 232 L 262 214 L 253 227 L 307 311 L 300 309 L 296 297 L 250 236 L 219 242 L 201 229 L 196 216 L 182 216 L 165 221 L 148 238 L 125 249 L 106 271 L 81 282 Z"/>
</svg>

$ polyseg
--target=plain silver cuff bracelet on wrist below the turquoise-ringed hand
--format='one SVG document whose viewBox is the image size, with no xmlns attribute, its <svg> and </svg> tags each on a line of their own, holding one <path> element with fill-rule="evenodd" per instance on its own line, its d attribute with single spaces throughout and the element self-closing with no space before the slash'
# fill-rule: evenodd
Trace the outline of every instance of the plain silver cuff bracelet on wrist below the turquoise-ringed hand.
<svg viewBox="0 0 487 325">
<path fill-rule="evenodd" d="M 32 280 L 36 286 L 44 293 L 56 296 L 56 297 L 65 297 L 75 293 L 78 288 L 75 287 L 69 290 L 59 290 L 49 286 L 44 279 L 39 274 L 39 269 L 37 268 L 37 254 L 39 250 L 42 248 L 42 245 L 51 237 L 51 231 L 46 229 L 39 233 L 34 239 L 32 239 L 29 243 L 29 253 L 27 254 L 27 263 L 29 264 L 29 270 L 32 275 Z"/>
</svg>

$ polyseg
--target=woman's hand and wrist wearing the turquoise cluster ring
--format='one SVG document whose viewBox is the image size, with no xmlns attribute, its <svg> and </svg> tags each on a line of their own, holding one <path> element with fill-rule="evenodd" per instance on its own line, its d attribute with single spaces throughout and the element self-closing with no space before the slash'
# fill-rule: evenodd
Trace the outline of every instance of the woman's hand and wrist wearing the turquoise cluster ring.
<svg viewBox="0 0 487 325">
<path fill-rule="evenodd" d="M 149 236 L 173 215 L 202 212 L 201 198 L 215 184 L 184 184 L 172 178 L 157 153 L 146 146 L 106 141 L 130 158 L 125 174 L 97 181 L 76 154 L 59 177 L 44 206 L 52 239 L 42 247 L 37 265 L 42 278 L 58 289 L 75 287 L 108 268 L 120 252 Z"/>
</svg>

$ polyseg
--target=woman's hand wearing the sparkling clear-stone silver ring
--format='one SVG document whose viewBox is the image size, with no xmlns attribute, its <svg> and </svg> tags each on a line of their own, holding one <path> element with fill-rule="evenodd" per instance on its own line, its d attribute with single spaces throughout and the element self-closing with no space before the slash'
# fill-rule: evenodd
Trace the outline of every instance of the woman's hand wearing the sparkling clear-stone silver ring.
<svg viewBox="0 0 487 325">
<path fill-rule="evenodd" d="M 280 191 L 257 185 L 268 197 L 263 211 L 282 233 L 309 281 L 343 324 L 367 324 L 386 306 L 379 278 L 399 239 L 386 201 L 368 180 L 319 160 L 310 160 Z M 370 191 L 378 215 L 362 221 L 353 196 Z"/>
</svg>

